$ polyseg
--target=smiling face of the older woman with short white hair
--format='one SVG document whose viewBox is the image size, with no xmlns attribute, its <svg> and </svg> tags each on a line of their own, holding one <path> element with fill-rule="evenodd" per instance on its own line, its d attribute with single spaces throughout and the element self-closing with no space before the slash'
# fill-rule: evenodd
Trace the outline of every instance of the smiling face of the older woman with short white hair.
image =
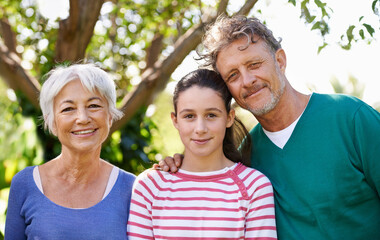
<svg viewBox="0 0 380 240">
<path fill-rule="evenodd" d="M 62 150 L 100 151 L 111 122 L 106 99 L 97 91 L 88 91 L 79 79 L 69 82 L 54 98 L 53 133 Z"/>
</svg>

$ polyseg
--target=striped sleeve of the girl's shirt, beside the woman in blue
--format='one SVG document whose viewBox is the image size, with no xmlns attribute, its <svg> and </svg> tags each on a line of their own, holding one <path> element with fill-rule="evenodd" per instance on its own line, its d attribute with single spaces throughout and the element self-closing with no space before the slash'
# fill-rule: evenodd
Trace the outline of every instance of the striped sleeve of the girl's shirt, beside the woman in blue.
<svg viewBox="0 0 380 240">
<path fill-rule="evenodd" d="M 152 222 L 153 193 L 146 184 L 148 180 L 145 176 L 139 176 L 133 186 L 127 226 L 129 240 L 154 239 Z"/>
</svg>

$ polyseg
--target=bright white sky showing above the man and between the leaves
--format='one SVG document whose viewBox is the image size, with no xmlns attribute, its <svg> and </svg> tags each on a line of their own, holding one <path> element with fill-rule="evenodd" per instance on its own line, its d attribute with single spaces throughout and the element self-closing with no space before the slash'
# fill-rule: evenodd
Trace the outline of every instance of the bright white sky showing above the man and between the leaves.
<svg viewBox="0 0 380 240">
<path fill-rule="evenodd" d="M 54 18 L 67 16 L 68 0 L 38 0 L 42 13 Z M 213 2 L 215 0 L 208 0 Z M 282 38 L 282 47 L 287 55 L 286 75 L 290 83 L 298 91 L 310 93 L 309 86 L 315 91 L 333 93 L 330 84 L 335 77 L 342 83 L 347 83 L 353 76 L 365 85 L 363 100 L 373 105 L 380 102 L 380 18 L 372 13 L 373 0 L 325 0 L 333 9 L 331 14 L 330 34 L 327 38 L 329 45 L 321 53 L 318 46 L 322 38 L 317 31 L 311 31 L 311 26 L 305 25 L 300 19 L 300 7 L 289 4 L 287 0 L 259 0 L 254 7 L 260 9 L 257 17 L 265 20 L 267 26 L 276 37 Z M 53 3 L 54 2 L 54 3 Z M 238 9 L 243 0 L 233 0 L 230 10 Z M 298 3 L 299 4 L 299 3 Z M 60 12 L 55 9 L 61 10 Z M 363 22 L 371 24 L 375 29 L 375 40 L 370 45 L 365 42 L 353 43 L 351 50 L 343 50 L 337 41 L 351 24 L 357 24 L 360 16 L 365 16 Z M 377 39 L 377 40 L 376 40 Z M 173 73 L 172 78 L 179 80 L 188 72 L 195 70 L 198 63 L 192 52 Z M 175 83 L 169 84 L 167 90 L 172 92 Z"/>
</svg>

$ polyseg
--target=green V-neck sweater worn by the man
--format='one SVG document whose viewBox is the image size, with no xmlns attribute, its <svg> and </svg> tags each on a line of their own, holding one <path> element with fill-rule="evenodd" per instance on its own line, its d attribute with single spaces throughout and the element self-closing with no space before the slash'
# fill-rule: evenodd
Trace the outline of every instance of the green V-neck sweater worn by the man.
<svg viewBox="0 0 380 240">
<path fill-rule="evenodd" d="M 252 167 L 272 182 L 279 239 L 380 239 L 380 114 L 314 93 L 283 149 L 260 124 Z"/>
</svg>

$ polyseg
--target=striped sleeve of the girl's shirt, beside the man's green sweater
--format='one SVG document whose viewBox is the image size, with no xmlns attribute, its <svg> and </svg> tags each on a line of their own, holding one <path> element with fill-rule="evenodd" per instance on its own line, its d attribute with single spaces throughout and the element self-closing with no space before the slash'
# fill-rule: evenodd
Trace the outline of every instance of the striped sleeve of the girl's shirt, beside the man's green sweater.
<svg viewBox="0 0 380 240">
<path fill-rule="evenodd" d="M 247 209 L 244 239 L 277 239 L 272 184 L 261 174 L 255 185 Z"/>
</svg>

